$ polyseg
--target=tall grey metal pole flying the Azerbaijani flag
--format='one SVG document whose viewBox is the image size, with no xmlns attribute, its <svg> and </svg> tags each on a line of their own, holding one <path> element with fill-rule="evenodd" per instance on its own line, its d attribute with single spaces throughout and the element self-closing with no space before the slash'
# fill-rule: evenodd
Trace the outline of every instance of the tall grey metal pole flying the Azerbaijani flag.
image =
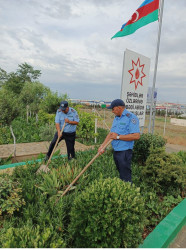
<svg viewBox="0 0 186 250">
<path fill-rule="evenodd" d="M 156 85 L 156 75 L 157 75 L 158 56 L 159 56 L 160 37 L 161 37 L 161 26 L 162 26 L 162 19 L 163 19 L 164 0 L 160 0 L 160 1 L 161 1 L 161 7 L 160 7 L 160 15 L 159 15 L 158 41 L 157 41 L 157 48 L 156 48 L 153 86 L 152 86 L 152 94 L 151 94 L 150 117 L 149 117 L 149 128 L 148 128 L 149 133 L 151 133 L 152 110 L 154 106 L 154 90 L 155 90 L 155 85 Z"/>
</svg>

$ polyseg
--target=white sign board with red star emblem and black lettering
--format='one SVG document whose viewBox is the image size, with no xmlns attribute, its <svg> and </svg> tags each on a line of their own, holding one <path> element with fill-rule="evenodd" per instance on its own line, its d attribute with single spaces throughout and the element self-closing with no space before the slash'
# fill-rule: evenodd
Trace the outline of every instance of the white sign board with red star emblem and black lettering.
<svg viewBox="0 0 186 250">
<path fill-rule="evenodd" d="M 127 110 L 131 111 L 145 124 L 147 89 L 149 81 L 150 59 L 131 50 L 126 50 L 123 62 L 121 99 Z"/>
</svg>

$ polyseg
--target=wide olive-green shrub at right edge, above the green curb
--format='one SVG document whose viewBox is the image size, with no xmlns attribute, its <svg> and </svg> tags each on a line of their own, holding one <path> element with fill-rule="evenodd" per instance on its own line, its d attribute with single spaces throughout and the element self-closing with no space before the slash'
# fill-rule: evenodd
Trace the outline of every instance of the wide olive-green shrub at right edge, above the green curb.
<svg viewBox="0 0 186 250">
<path fill-rule="evenodd" d="M 185 170 L 176 154 L 168 154 L 164 148 L 152 149 L 141 171 L 142 181 L 155 188 L 156 192 L 181 195 L 185 185 Z"/>
</svg>

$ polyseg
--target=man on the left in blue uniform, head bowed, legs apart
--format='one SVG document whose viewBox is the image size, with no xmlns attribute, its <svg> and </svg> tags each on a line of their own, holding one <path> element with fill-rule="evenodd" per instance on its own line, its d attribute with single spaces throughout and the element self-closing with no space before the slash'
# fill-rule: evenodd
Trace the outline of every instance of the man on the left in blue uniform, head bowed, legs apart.
<svg viewBox="0 0 186 250">
<path fill-rule="evenodd" d="M 63 130 L 62 136 L 59 139 L 59 142 L 63 139 L 65 140 L 65 143 L 67 146 L 68 160 L 75 158 L 74 145 L 75 145 L 75 137 L 76 137 L 76 126 L 79 123 L 79 116 L 75 109 L 68 106 L 67 101 L 62 101 L 60 103 L 60 108 L 56 112 L 56 117 L 55 117 L 57 132 L 55 133 L 54 138 L 52 142 L 50 143 L 49 150 L 48 150 L 45 160 L 49 159 L 52 153 L 52 150 L 56 144 L 56 141 L 58 137 L 60 136 L 60 131 L 64 125 L 64 122 L 66 123 L 66 125 Z"/>
</svg>

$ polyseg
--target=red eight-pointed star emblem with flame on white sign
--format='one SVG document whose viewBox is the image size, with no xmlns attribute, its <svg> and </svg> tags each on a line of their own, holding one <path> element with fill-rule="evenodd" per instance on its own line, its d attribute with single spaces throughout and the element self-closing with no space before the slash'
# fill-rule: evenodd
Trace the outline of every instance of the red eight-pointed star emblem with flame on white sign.
<svg viewBox="0 0 186 250">
<path fill-rule="evenodd" d="M 140 59 L 138 58 L 137 63 L 135 63 L 132 60 L 132 69 L 130 69 L 128 72 L 131 74 L 131 80 L 130 83 L 135 83 L 135 90 L 138 87 L 138 84 L 143 86 L 142 79 L 146 75 L 143 72 L 145 64 L 140 65 Z"/>
</svg>

